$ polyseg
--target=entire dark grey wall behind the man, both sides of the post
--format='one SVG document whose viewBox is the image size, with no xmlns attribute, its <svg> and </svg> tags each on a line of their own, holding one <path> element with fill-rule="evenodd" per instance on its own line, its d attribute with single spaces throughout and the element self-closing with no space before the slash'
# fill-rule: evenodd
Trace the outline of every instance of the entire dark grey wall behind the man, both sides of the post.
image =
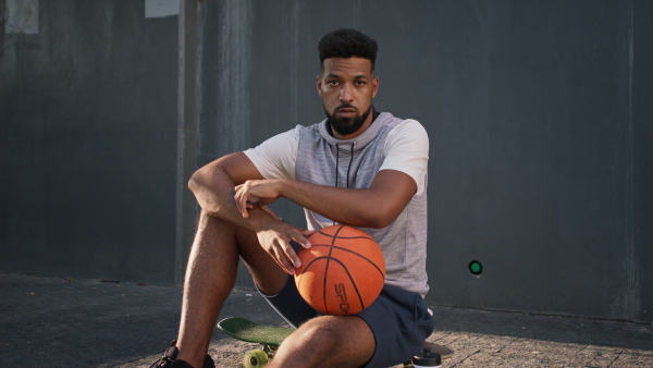
<svg viewBox="0 0 653 368">
<path fill-rule="evenodd" d="M 347 26 L 380 41 L 377 108 L 430 134 L 429 302 L 653 321 L 653 3 L 181 5 L 62 1 L 0 37 L 0 271 L 180 282 L 187 177 L 321 120 L 316 44 Z"/>
</svg>

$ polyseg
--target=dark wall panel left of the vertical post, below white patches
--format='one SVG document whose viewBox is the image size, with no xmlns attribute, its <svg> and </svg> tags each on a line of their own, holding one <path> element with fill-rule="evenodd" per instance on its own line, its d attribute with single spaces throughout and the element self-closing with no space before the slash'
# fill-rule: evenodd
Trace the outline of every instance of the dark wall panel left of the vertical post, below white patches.
<svg viewBox="0 0 653 368">
<path fill-rule="evenodd" d="M 173 282 L 178 17 L 144 4 L 0 24 L 0 272 Z"/>
</svg>

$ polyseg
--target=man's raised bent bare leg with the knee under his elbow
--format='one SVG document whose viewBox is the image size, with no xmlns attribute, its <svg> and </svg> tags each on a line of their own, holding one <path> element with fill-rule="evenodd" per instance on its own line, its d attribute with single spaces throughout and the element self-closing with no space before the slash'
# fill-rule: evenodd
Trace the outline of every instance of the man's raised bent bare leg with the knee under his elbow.
<svg viewBox="0 0 653 368">
<path fill-rule="evenodd" d="M 241 254 L 250 270 L 266 274 L 262 290 L 281 291 L 287 274 L 263 252 L 256 234 L 202 211 L 184 281 L 177 359 L 202 366 L 215 320 L 234 286 Z"/>
</svg>

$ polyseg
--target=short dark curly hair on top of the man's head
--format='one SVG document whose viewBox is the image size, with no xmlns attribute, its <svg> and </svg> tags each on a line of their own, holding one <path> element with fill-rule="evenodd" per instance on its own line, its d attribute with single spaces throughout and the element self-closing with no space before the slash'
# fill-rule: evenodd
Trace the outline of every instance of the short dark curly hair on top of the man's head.
<svg viewBox="0 0 653 368">
<path fill-rule="evenodd" d="M 334 30 L 320 40 L 320 69 L 324 70 L 324 59 L 329 58 L 362 58 L 372 63 L 372 72 L 377 62 L 379 45 L 377 40 L 356 29 L 342 28 Z"/>
</svg>

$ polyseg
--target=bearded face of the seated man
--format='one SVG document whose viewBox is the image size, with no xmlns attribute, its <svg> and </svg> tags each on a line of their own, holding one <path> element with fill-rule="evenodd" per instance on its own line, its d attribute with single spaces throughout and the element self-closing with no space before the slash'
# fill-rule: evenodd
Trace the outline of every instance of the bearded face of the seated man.
<svg viewBox="0 0 653 368">
<path fill-rule="evenodd" d="M 370 112 L 379 78 L 368 59 L 329 58 L 324 60 L 323 69 L 317 78 L 317 87 L 333 136 L 353 138 L 372 123 Z"/>
</svg>

